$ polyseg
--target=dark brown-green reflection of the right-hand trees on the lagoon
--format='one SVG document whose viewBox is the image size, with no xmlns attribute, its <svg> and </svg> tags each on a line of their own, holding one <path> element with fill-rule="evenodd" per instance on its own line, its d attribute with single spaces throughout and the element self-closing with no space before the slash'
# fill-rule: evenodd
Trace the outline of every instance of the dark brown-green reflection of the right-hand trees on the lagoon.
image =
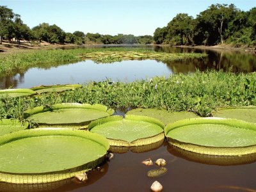
<svg viewBox="0 0 256 192">
<path fill-rule="evenodd" d="M 173 73 L 188 74 L 195 72 L 196 69 L 204 71 L 207 69 L 223 70 L 225 72 L 255 72 L 256 71 L 256 54 L 252 52 L 228 51 L 228 50 L 209 50 L 209 49 L 194 49 L 180 47 L 154 47 L 155 51 L 170 52 L 170 53 L 186 53 L 200 52 L 208 56 L 203 60 L 186 60 L 186 61 L 171 61 L 164 62 Z"/>
</svg>

